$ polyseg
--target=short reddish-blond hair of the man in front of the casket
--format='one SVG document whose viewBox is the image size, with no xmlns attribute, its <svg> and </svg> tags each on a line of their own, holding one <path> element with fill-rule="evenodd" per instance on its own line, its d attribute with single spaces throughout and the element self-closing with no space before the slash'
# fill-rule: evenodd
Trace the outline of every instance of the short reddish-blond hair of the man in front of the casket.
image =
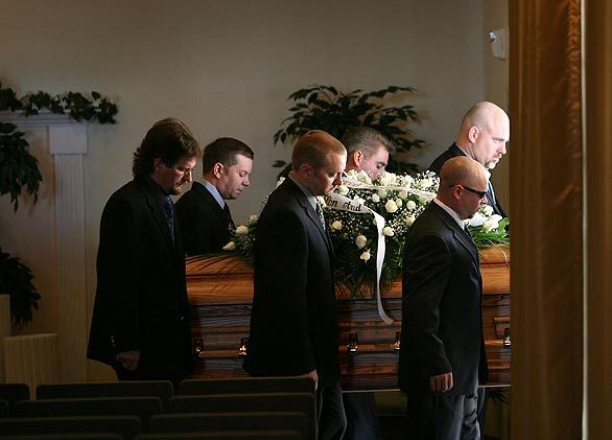
<svg viewBox="0 0 612 440">
<path fill-rule="evenodd" d="M 337 138 L 323 130 L 308 131 L 293 147 L 291 168 L 297 171 L 300 165 L 308 164 L 319 169 L 327 165 L 329 154 L 346 154 L 346 149 Z"/>
</svg>

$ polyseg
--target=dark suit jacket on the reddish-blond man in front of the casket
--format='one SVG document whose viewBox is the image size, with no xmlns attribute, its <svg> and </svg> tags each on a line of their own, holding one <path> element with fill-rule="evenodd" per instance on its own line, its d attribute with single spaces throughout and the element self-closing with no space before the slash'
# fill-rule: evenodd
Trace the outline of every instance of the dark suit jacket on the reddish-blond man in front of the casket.
<svg viewBox="0 0 612 440">
<path fill-rule="evenodd" d="M 290 179 L 270 195 L 255 237 L 255 293 L 247 358 L 252 376 L 317 371 L 340 377 L 332 247 L 304 192 Z"/>
</svg>

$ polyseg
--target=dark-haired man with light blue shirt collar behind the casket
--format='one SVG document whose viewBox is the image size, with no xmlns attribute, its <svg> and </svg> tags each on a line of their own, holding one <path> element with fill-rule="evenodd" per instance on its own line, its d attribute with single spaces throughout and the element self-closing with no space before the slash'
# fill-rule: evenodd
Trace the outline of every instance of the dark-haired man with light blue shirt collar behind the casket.
<svg viewBox="0 0 612 440">
<path fill-rule="evenodd" d="M 254 155 L 247 144 L 231 137 L 204 148 L 203 183 L 193 182 L 176 202 L 187 255 L 220 252 L 230 241 L 235 225 L 225 200 L 237 199 L 250 184 Z"/>
</svg>

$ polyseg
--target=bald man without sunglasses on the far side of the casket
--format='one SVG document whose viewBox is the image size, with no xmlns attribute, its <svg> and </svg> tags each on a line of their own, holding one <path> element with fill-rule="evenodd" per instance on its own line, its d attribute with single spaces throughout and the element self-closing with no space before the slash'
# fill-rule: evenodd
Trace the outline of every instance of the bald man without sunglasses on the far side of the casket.
<svg viewBox="0 0 612 440">
<path fill-rule="evenodd" d="M 488 170 L 494 169 L 506 154 L 506 142 L 510 139 L 510 119 L 497 105 L 483 101 L 468 110 L 461 120 L 457 141 L 436 157 L 429 169 L 436 174 L 451 157 L 468 156 Z M 493 184 L 488 183 L 487 204 L 494 213 L 507 217 L 506 211 L 495 197 Z"/>
</svg>

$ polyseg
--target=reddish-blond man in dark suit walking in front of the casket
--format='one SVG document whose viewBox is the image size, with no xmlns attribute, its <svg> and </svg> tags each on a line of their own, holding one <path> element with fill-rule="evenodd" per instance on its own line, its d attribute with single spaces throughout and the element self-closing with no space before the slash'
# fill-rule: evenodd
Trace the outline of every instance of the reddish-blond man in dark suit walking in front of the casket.
<svg viewBox="0 0 612 440">
<path fill-rule="evenodd" d="M 332 135 L 299 138 L 289 177 L 269 196 L 255 235 L 253 310 L 244 368 L 251 376 L 310 376 L 318 439 L 346 426 L 338 365 L 332 243 L 316 196 L 341 183 L 346 150 Z"/>
</svg>

